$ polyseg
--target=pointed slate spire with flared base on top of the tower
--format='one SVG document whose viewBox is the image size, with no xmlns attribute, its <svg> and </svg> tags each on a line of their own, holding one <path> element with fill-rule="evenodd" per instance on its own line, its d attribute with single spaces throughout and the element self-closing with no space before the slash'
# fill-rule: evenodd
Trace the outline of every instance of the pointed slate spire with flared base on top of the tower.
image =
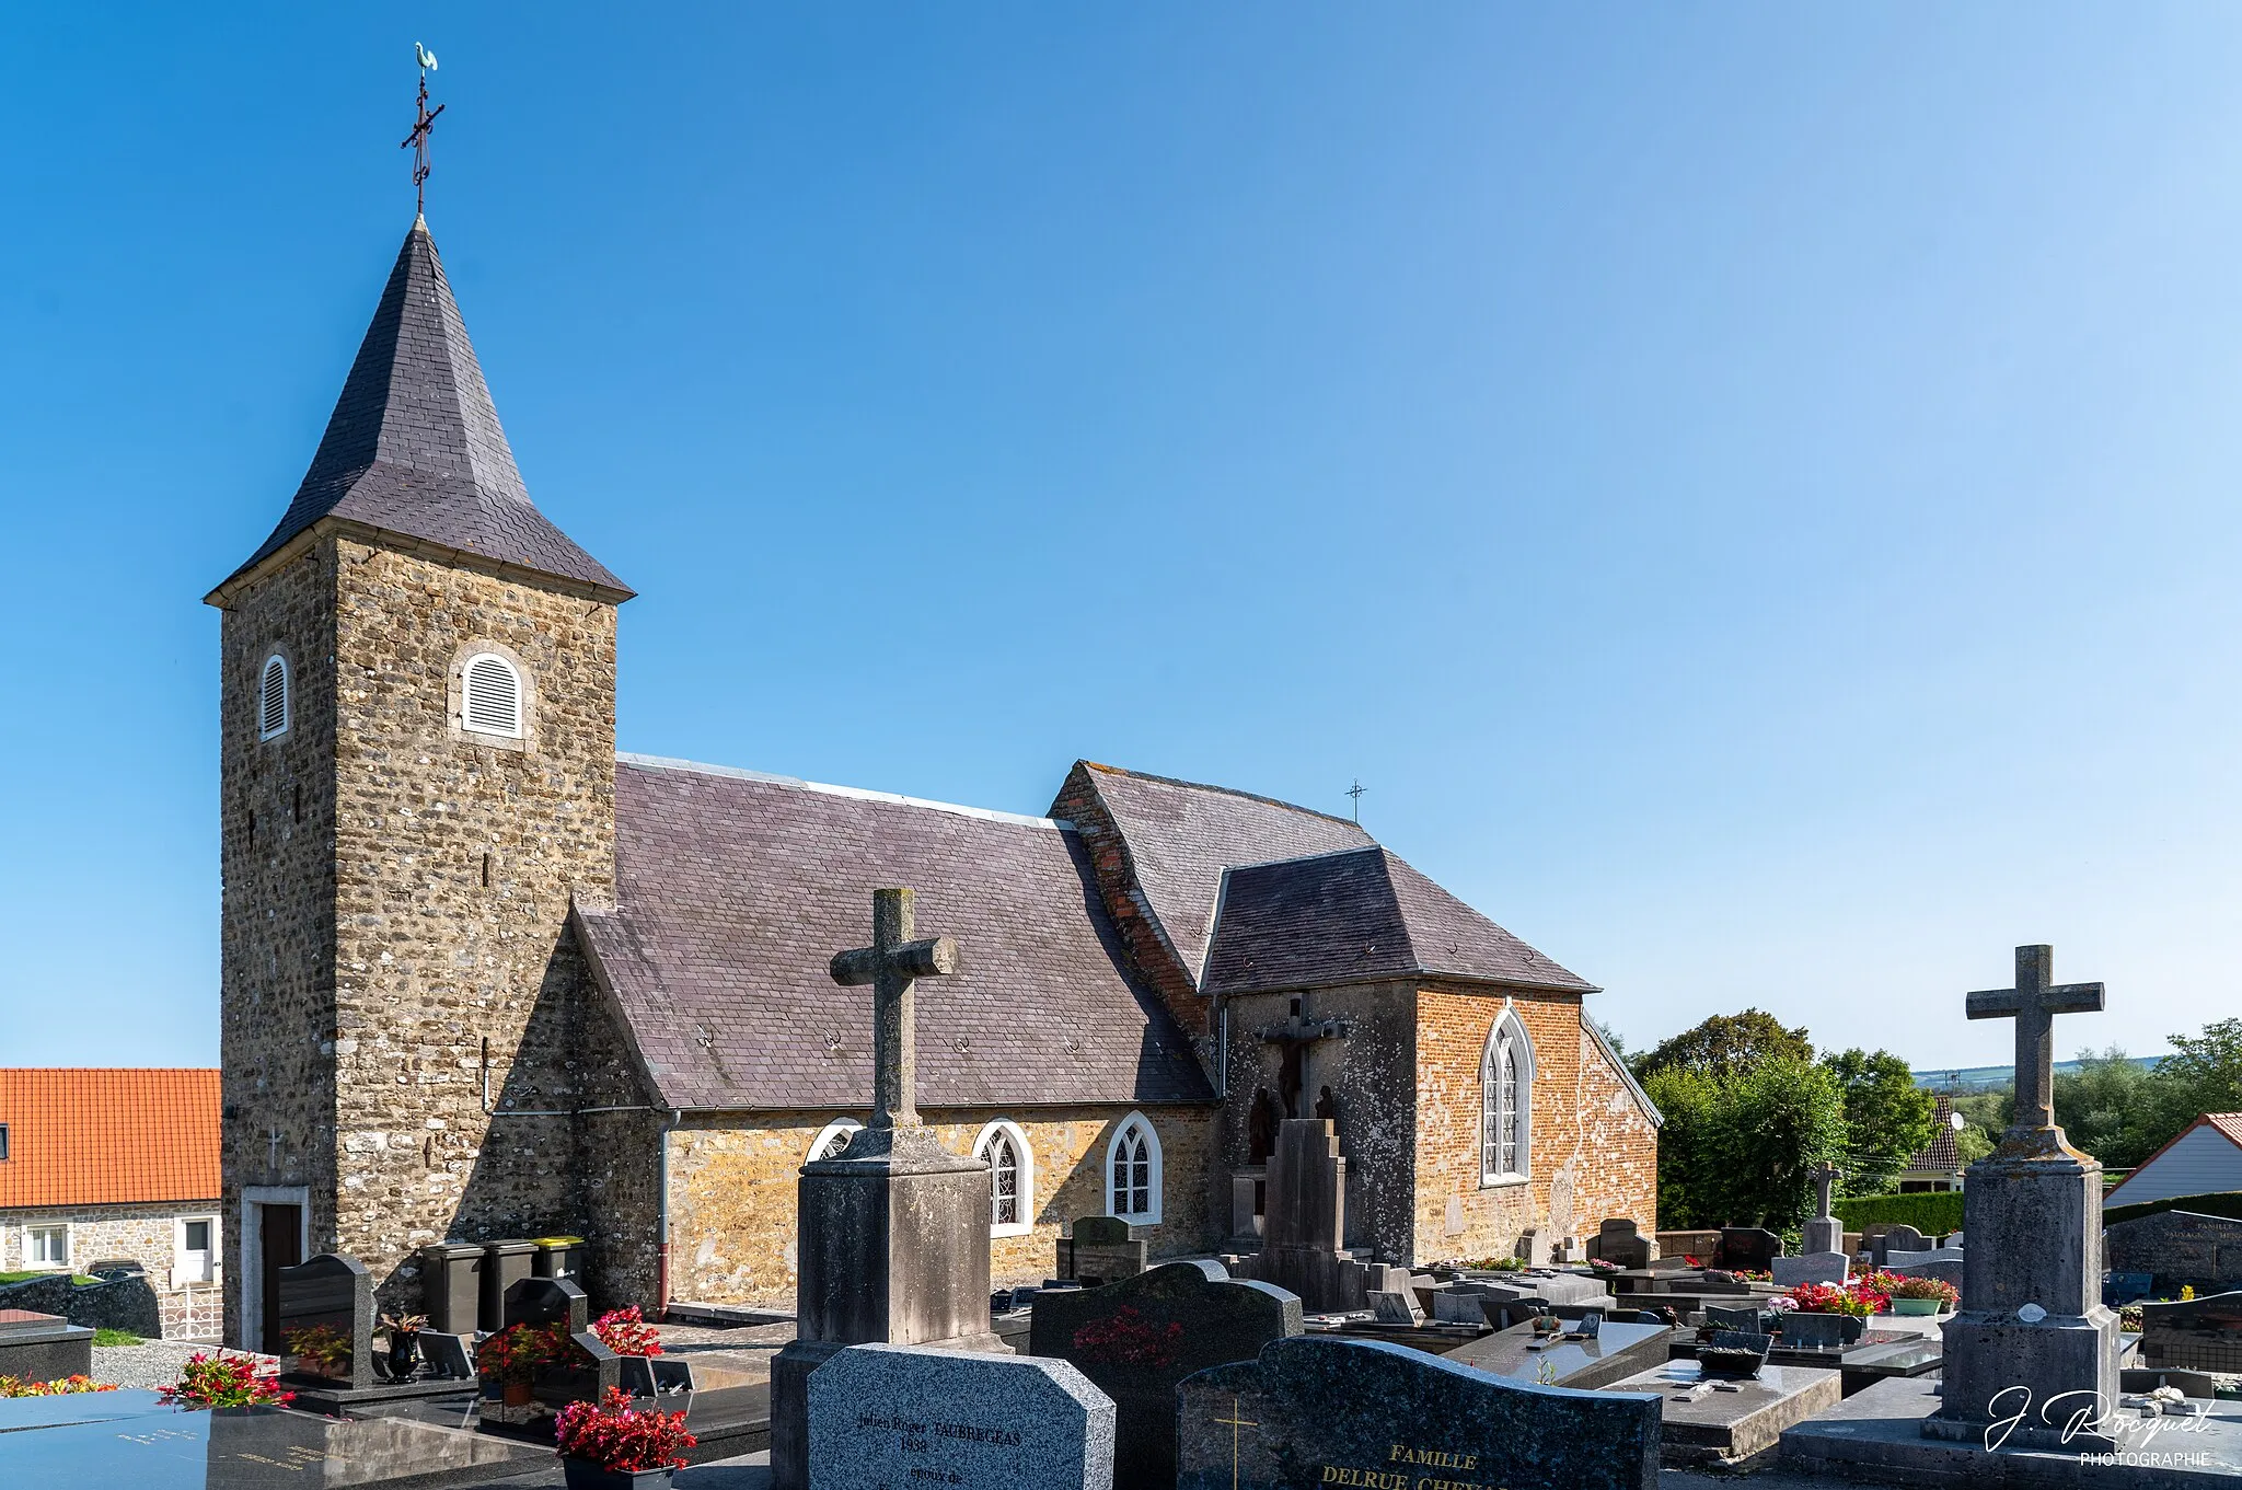
<svg viewBox="0 0 2242 1490">
<path fill-rule="evenodd" d="M 426 220 L 397 251 L 296 500 L 211 598 L 323 518 L 630 598 L 529 502 Z"/>
</svg>

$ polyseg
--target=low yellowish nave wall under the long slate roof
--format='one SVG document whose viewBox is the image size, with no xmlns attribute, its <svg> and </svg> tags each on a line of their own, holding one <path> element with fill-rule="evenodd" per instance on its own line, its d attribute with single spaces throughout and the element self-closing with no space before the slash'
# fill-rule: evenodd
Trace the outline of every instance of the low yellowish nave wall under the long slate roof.
<svg viewBox="0 0 2242 1490">
<path fill-rule="evenodd" d="M 991 1284 L 1051 1277 L 1060 1226 L 1105 1214 L 1105 1145 L 1141 1111 L 1161 1143 L 1161 1223 L 1155 1257 L 1211 1246 L 1199 1196 L 1215 1138 L 1213 1107 L 1056 1107 L 1020 1111 L 928 1109 L 953 1154 L 971 1154 L 982 1127 L 1009 1118 L 1034 1154 L 1034 1228 L 989 1244 Z M 670 1297 L 711 1304 L 785 1304 L 794 1297 L 796 1181 L 816 1134 L 852 1114 L 688 1114 L 670 1134 Z"/>
</svg>

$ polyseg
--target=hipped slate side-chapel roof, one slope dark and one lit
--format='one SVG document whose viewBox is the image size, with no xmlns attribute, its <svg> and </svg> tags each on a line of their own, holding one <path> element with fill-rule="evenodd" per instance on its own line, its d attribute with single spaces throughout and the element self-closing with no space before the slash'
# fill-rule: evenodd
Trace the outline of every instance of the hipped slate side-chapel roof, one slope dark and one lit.
<svg viewBox="0 0 2242 1490">
<path fill-rule="evenodd" d="M 1388 977 L 1594 993 L 1381 845 L 1224 876 L 1204 993 Z"/>
</svg>

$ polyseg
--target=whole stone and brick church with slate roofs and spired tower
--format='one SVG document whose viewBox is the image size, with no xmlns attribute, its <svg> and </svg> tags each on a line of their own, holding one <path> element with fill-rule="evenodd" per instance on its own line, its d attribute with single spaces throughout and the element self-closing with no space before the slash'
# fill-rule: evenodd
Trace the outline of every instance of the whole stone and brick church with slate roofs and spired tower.
<svg viewBox="0 0 2242 1490">
<path fill-rule="evenodd" d="M 1332 1116 L 1365 1257 L 1655 1226 L 1594 988 L 1361 827 L 1094 762 L 1049 816 L 614 748 L 630 587 L 529 500 L 424 222 L 224 612 L 226 1338 L 352 1252 L 578 1235 L 601 1304 L 782 1302 L 803 1161 L 870 1116 L 827 963 L 917 892 L 917 1102 L 991 1170 L 995 1279 L 1076 1217 L 1251 1248 Z"/>
</svg>

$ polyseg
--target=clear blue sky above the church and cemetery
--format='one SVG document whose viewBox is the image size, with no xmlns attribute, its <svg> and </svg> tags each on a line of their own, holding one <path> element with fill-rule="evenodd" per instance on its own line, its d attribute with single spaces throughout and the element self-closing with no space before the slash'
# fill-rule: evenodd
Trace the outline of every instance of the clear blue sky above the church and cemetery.
<svg viewBox="0 0 2242 1490">
<path fill-rule="evenodd" d="M 415 40 L 626 751 L 1359 775 L 1637 1044 L 2007 1060 L 2020 941 L 2110 984 L 2065 1053 L 2242 1006 L 2238 9 L 43 7 L 0 1064 L 217 1058 L 200 596 L 410 224 Z"/>
</svg>

